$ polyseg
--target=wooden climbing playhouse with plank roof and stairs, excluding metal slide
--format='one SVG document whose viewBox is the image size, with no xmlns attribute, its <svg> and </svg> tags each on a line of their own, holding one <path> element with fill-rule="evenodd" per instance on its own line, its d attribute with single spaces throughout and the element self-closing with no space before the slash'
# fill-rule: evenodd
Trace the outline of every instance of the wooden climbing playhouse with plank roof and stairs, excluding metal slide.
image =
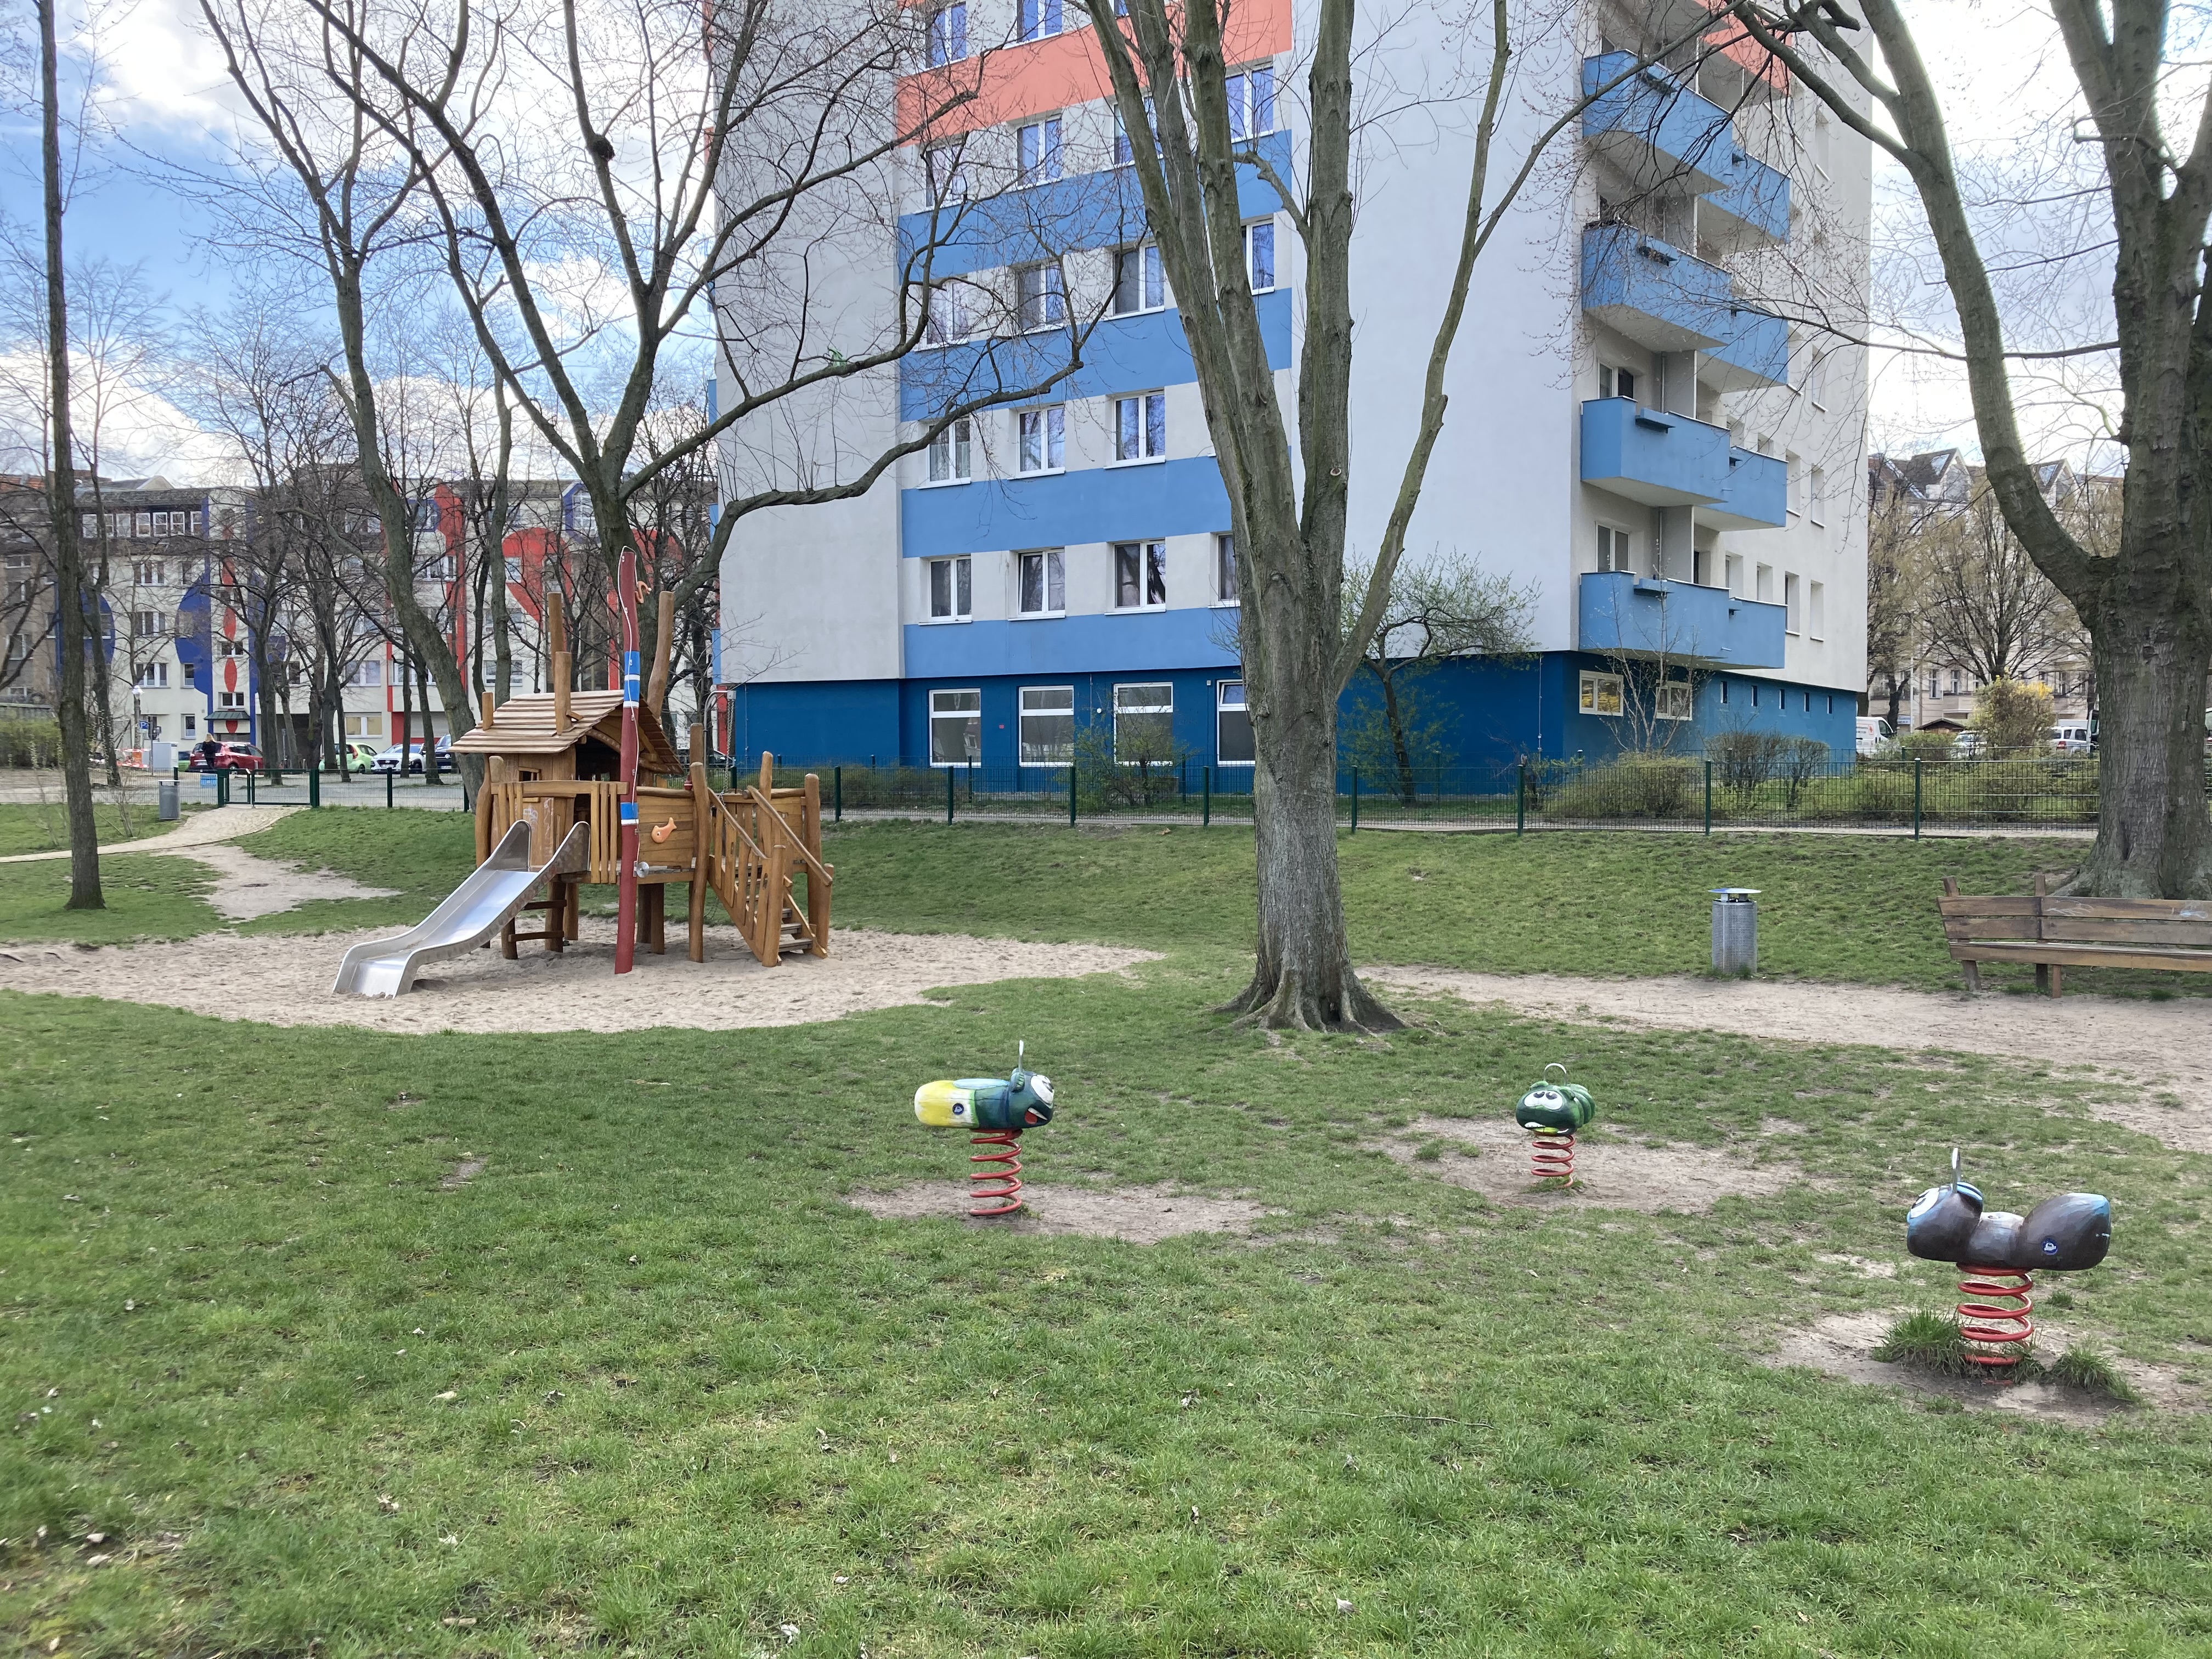
<svg viewBox="0 0 2212 1659">
<path fill-rule="evenodd" d="M 484 785 L 476 796 L 476 860 L 482 865 L 507 832 L 526 823 L 531 858 L 546 863 L 577 827 L 584 830 L 580 867 L 549 869 L 546 896 L 522 907 L 542 916 L 538 931 L 500 929 L 500 953 L 538 940 L 560 951 L 577 936 L 580 889 L 615 885 L 624 874 L 624 692 L 568 690 L 571 657 L 560 599 L 546 606 L 553 690 L 515 697 L 493 708 L 484 723 L 453 739 L 458 754 L 484 757 Z M 706 728 L 690 730 L 690 768 L 684 768 L 655 710 L 668 690 L 668 646 L 675 635 L 675 595 L 659 595 L 659 648 L 646 697 L 635 681 L 628 714 L 635 719 L 635 938 L 655 956 L 668 949 L 670 883 L 690 885 L 690 960 L 706 960 L 706 896 L 721 900 L 748 949 L 768 967 L 785 951 L 830 953 L 830 883 L 823 863 L 821 781 L 774 787 L 774 757 L 745 787 L 717 792 L 706 776 Z M 635 675 L 635 661 L 630 664 Z M 653 776 L 657 783 L 646 783 Z M 522 920 L 522 918 L 518 918 Z M 628 964 L 619 951 L 617 971 Z"/>
</svg>

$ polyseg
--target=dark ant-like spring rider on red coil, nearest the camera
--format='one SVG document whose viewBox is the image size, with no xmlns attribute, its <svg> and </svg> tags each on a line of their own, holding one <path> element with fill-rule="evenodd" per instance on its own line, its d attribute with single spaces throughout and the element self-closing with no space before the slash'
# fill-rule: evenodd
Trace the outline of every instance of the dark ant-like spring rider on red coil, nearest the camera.
<svg viewBox="0 0 2212 1659">
<path fill-rule="evenodd" d="M 2112 1201 L 2101 1192 L 2062 1192 L 2026 1217 L 1984 1210 L 1982 1192 L 1958 1179 L 1951 1148 L 1949 1186 L 1931 1186 L 1905 1212 L 1905 1248 L 1922 1261 L 1951 1261 L 1964 1279 L 1958 1334 L 1966 1358 L 1991 1380 L 2004 1380 L 2035 1338 L 2031 1270 L 2081 1272 L 2112 1248 Z"/>
</svg>

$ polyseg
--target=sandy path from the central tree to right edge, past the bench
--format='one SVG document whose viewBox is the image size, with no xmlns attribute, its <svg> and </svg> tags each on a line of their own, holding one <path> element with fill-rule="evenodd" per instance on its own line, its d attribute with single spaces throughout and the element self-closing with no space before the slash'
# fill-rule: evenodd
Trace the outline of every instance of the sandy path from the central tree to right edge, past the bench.
<svg viewBox="0 0 2212 1659">
<path fill-rule="evenodd" d="M 1770 1042 L 1856 1042 L 2090 1066 L 2124 1086 L 2097 1117 L 2212 1152 L 2212 1000 L 2017 998 L 1798 980 L 1575 980 L 1369 967 L 1378 987 L 1502 1002 L 1566 1024 L 1736 1031 Z M 2168 1097 L 2168 1099 L 2161 1099 Z"/>
</svg>

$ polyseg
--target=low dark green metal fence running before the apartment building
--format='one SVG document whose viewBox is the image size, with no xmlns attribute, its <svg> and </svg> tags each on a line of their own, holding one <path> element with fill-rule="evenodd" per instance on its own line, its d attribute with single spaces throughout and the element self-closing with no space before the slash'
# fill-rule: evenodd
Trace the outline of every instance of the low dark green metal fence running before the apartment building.
<svg viewBox="0 0 2212 1659">
<path fill-rule="evenodd" d="M 779 785 L 816 772 L 830 816 L 927 816 L 1088 823 L 1159 818 L 1250 823 L 1252 768 L 1194 761 L 1128 765 L 776 765 Z M 750 776 L 750 768 L 737 774 Z M 732 768 L 717 757 L 717 787 Z M 321 807 L 467 810 L 458 774 L 416 776 L 310 772 L 281 776 L 186 772 L 186 799 Z M 2212 776 L 2208 776 L 2212 790 Z M 1345 770 L 1336 779 L 1338 823 L 1358 827 L 1455 830 L 1947 830 L 2093 832 L 2097 759 L 2017 761 L 1858 759 L 1761 765 L 1756 761 L 1624 757 L 1604 763 L 1522 761 L 1489 768 Z"/>
</svg>

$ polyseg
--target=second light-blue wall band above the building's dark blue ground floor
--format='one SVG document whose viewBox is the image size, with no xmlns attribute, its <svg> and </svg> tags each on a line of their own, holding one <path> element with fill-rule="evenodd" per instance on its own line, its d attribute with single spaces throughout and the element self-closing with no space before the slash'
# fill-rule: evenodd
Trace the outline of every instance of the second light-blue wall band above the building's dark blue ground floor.
<svg viewBox="0 0 2212 1659">
<path fill-rule="evenodd" d="M 898 493 L 898 551 L 909 560 L 1201 535 L 1228 526 L 1230 493 L 1212 456 Z"/>
</svg>

